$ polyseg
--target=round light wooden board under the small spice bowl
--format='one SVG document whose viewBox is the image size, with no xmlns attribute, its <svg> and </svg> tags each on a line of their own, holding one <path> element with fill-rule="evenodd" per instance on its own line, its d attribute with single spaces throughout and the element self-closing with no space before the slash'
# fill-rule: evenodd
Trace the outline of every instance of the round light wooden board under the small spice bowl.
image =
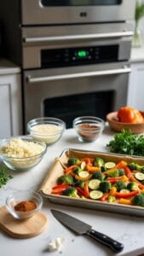
<svg viewBox="0 0 144 256">
<path fill-rule="evenodd" d="M 32 218 L 20 220 L 14 218 L 7 210 L 7 207 L 0 208 L 0 228 L 6 231 L 9 236 L 16 238 L 31 238 L 43 232 L 48 224 L 48 219 L 43 212 L 36 212 Z"/>
</svg>

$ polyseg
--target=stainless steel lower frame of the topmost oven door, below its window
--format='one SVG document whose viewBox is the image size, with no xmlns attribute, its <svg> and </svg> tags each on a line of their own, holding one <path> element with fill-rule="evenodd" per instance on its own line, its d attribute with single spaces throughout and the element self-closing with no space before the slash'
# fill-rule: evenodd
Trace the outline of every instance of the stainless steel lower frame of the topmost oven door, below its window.
<svg viewBox="0 0 144 256">
<path fill-rule="evenodd" d="M 135 0 L 21 0 L 22 24 L 134 20 Z"/>
</svg>

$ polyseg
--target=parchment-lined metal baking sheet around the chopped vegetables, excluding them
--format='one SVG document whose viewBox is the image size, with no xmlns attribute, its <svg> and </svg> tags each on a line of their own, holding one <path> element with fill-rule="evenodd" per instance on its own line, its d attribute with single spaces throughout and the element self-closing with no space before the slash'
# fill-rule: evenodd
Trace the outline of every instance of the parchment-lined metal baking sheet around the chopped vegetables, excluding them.
<svg viewBox="0 0 144 256">
<path fill-rule="evenodd" d="M 71 198 L 64 195 L 52 195 L 51 190 L 55 186 L 57 178 L 63 174 L 63 166 L 62 164 L 66 164 L 69 157 L 78 157 L 80 159 L 84 157 L 96 157 L 99 156 L 107 161 L 115 161 L 126 160 L 129 162 L 136 162 L 142 166 L 144 166 L 144 158 L 143 157 L 132 157 L 124 154 L 112 154 L 112 153 L 104 153 L 97 151 L 86 151 L 79 149 L 67 148 L 61 154 L 60 157 L 56 158 L 54 161 L 54 165 L 51 170 L 48 172 L 48 175 L 45 177 L 39 192 L 44 197 L 48 198 L 49 201 L 52 201 L 57 204 L 69 205 L 73 207 L 84 207 L 88 209 L 102 210 L 107 212 L 118 212 L 125 213 L 129 215 L 136 215 L 144 217 L 144 207 L 135 207 L 135 206 L 127 206 L 120 205 L 118 203 L 107 203 L 89 199 L 80 199 L 80 198 Z"/>
</svg>

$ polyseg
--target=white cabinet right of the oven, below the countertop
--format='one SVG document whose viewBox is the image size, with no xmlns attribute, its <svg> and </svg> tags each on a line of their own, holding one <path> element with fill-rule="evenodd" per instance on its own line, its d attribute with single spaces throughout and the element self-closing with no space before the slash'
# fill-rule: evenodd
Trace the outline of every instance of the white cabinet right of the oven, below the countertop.
<svg viewBox="0 0 144 256">
<path fill-rule="evenodd" d="M 144 110 L 144 47 L 133 49 L 127 105 Z"/>
</svg>

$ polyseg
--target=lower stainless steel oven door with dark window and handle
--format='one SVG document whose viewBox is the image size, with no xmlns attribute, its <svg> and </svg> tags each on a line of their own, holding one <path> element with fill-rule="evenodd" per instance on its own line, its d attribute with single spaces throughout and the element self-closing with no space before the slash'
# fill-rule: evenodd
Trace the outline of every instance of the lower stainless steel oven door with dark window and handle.
<svg viewBox="0 0 144 256">
<path fill-rule="evenodd" d="M 53 116 L 72 127 L 79 115 L 105 119 L 127 102 L 127 62 L 25 71 L 25 125 L 30 119 Z"/>
</svg>

